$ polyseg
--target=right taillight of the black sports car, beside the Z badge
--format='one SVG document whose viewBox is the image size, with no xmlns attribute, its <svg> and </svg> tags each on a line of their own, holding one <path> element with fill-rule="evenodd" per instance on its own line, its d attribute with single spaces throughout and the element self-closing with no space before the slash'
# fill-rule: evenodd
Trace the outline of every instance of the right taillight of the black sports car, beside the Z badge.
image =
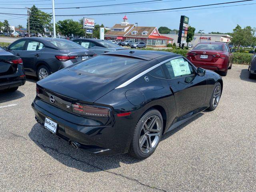
<svg viewBox="0 0 256 192">
<path fill-rule="evenodd" d="M 72 112 L 82 116 L 110 117 L 110 109 L 98 106 L 91 106 L 82 103 L 72 104 Z"/>
</svg>

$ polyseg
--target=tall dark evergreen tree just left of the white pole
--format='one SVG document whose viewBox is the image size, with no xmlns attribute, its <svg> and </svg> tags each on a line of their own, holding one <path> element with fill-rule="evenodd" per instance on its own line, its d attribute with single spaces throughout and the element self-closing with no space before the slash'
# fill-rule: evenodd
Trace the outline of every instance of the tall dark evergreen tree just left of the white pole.
<svg viewBox="0 0 256 192">
<path fill-rule="evenodd" d="M 39 10 L 36 6 L 30 8 L 30 33 L 44 33 L 44 28 L 50 24 L 52 20 L 51 14 Z M 27 21 L 28 28 L 28 21 Z"/>
</svg>

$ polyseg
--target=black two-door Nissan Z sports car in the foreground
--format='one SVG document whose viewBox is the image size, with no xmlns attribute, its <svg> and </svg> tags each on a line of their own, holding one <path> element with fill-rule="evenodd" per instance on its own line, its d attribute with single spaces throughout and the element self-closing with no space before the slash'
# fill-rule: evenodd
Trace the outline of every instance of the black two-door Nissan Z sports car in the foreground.
<svg viewBox="0 0 256 192">
<path fill-rule="evenodd" d="M 170 52 L 119 50 L 37 82 L 36 120 L 94 154 L 150 156 L 162 134 L 214 110 L 222 78 Z"/>
</svg>

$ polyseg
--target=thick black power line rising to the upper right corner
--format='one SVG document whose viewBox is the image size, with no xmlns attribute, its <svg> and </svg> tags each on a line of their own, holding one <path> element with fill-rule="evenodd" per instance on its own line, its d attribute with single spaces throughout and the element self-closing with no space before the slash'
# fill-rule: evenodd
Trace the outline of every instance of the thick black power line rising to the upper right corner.
<svg viewBox="0 0 256 192">
<path fill-rule="evenodd" d="M 167 10 L 178 10 L 178 9 L 186 9 L 186 8 L 196 8 L 196 7 L 204 7 L 204 6 L 214 6 L 214 5 L 222 5 L 222 4 L 231 4 L 238 2 L 248 2 L 254 0 L 240 0 L 234 2 L 224 2 L 224 3 L 216 3 L 216 4 L 207 4 L 207 5 L 198 5 L 198 6 L 188 6 L 188 7 L 180 7 L 180 8 L 168 8 L 168 9 L 158 9 L 158 10 L 147 10 L 147 11 L 132 11 L 132 12 L 117 12 L 117 13 L 100 13 L 100 14 L 74 14 L 74 15 L 56 15 L 56 16 L 100 16 L 100 15 L 117 15 L 117 14 L 129 14 L 129 13 L 147 13 L 147 12 L 159 12 L 159 11 L 167 11 Z M 0 13 L 7 14 L 7 13 Z M 9 14 L 9 13 L 8 13 Z M 26 15 L 26 14 L 10 14 L 10 15 Z M 48 16 L 48 15 L 33 15 L 33 16 Z"/>
</svg>

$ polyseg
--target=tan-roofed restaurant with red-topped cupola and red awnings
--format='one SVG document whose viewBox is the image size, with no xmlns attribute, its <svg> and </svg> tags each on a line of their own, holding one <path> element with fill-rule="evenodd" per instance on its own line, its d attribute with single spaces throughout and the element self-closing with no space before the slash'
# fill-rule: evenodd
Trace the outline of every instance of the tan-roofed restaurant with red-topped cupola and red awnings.
<svg viewBox="0 0 256 192">
<path fill-rule="evenodd" d="M 166 47 L 167 44 L 173 43 L 173 38 L 161 35 L 156 27 L 137 27 L 135 24 L 129 24 L 126 16 L 121 24 L 115 24 L 104 36 L 106 40 L 142 41 L 152 47 Z"/>
</svg>

